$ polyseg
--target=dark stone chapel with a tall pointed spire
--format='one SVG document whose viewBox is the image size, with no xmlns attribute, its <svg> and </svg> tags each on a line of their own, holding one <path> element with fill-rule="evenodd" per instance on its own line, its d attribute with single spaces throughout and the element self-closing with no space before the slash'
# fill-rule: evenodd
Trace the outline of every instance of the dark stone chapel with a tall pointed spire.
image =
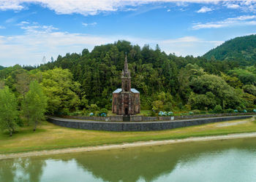
<svg viewBox="0 0 256 182">
<path fill-rule="evenodd" d="M 113 92 L 112 112 L 117 115 L 135 115 L 140 113 L 140 92 L 131 88 L 131 74 L 128 69 L 127 55 L 121 74 L 121 88 Z"/>
</svg>

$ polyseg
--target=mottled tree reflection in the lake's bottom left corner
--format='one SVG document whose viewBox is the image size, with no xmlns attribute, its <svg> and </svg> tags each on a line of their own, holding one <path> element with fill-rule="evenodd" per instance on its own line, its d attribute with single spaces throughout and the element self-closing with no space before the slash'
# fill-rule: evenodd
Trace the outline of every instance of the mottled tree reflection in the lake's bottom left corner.
<svg viewBox="0 0 256 182">
<path fill-rule="evenodd" d="M 0 161 L 0 181 L 40 181 L 45 159 L 20 158 Z M 18 175 L 17 175 L 18 174 Z"/>
</svg>

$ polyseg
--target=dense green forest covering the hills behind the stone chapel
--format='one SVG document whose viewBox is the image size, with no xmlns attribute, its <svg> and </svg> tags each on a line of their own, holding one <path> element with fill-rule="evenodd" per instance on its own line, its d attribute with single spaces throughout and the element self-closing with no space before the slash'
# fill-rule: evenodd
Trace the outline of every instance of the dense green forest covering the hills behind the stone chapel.
<svg viewBox="0 0 256 182">
<path fill-rule="evenodd" d="M 127 53 L 142 110 L 249 110 L 256 103 L 255 40 L 256 36 L 238 37 L 197 58 L 167 55 L 158 45 L 151 49 L 116 41 L 91 52 L 59 55 L 40 66 L 4 68 L 0 88 L 8 86 L 20 106 L 36 80 L 48 98 L 48 114 L 110 110 Z"/>
</svg>

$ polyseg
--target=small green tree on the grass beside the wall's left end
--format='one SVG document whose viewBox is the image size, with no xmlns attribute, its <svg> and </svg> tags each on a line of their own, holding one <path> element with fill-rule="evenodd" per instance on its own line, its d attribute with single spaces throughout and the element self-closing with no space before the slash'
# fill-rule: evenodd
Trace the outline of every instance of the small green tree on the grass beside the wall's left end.
<svg viewBox="0 0 256 182">
<path fill-rule="evenodd" d="M 46 107 L 47 97 L 42 92 L 42 87 L 37 81 L 31 82 L 29 92 L 25 95 L 21 109 L 29 124 L 34 124 L 34 131 L 37 129 L 37 124 L 45 119 Z"/>
</svg>

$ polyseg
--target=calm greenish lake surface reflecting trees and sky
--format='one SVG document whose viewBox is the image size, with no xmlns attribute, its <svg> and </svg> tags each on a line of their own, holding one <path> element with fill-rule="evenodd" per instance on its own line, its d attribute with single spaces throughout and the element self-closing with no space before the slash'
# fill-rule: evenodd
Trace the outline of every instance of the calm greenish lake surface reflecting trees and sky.
<svg viewBox="0 0 256 182">
<path fill-rule="evenodd" d="M 0 160 L 0 181 L 256 181 L 256 138 Z"/>
</svg>

